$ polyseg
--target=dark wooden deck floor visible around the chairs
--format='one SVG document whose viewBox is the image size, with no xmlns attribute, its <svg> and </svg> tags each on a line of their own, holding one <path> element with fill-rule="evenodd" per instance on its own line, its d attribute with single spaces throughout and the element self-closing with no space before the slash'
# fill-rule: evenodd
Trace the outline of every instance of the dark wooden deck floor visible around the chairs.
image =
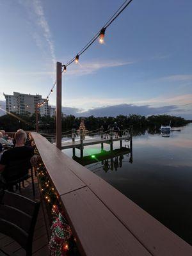
<svg viewBox="0 0 192 256">
<path fill-rule="evenodd" d="M 19 192 L 17 192 L 19 193 Z M 24 182 L 24 188 L 21 189 L 21 195 L 26 196 L 34 200 L 33 189 L 31 179 Z M 35 200 L 40 200 L 40 194 L 38 191 L 38 180 L 35 177 Z M 43 214 L 42 204 L 38 213 L 36 221 L 35 234 L 33 237 L 33 256 L 49 256 L 50 251 L 48 248 L 49 236 L 47 234 L 46 221 Z M 26 252 L 15 242 L 12 238 L 4 236 L 0 233 L 0 256 L 12 255 L 12 256 L 24 256 Z"/>
</svg>

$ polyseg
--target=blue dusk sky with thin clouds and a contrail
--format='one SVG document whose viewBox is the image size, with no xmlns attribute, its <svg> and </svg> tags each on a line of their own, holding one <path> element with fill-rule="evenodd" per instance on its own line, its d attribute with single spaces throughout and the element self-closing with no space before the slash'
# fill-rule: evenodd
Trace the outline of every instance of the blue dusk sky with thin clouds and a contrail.
<svg viewBox="0 0 192 256">
<path fill-rule="evenodd" d="M 76 56 L 122 0 L 1 0 L 3 93 L 47 97 L 56 61 Z M 65 112 L 138 113 L 192 119 L 192 1 L 133 0 L 63 75 Z M 56 104 L 55 90 L 49 104 Z"/>
</svg>

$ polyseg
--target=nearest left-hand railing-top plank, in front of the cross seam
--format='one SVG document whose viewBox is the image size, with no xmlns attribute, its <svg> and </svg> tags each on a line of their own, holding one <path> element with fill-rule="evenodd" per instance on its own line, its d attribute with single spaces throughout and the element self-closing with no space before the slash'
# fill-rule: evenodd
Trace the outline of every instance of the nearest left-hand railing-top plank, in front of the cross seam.
<svg viewBox="0 0 192 256">
<path fill-rule="evenodd" d="M 85 255 L 151 255 L 90 189 L 78 189 L 61 200 Z"/>
</svg>

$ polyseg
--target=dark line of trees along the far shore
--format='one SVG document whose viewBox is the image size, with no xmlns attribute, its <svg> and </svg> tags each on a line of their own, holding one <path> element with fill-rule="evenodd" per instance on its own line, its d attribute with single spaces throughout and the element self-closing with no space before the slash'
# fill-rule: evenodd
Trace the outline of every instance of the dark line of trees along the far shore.
<svg viewBox="0 0 192 256">
<path fill-rule="evenodd" d="M 182 117 L 170 116 L 170 115 L 152 115 L 152 116 L 141 116 L 141 115 L 118 115 L 95 117 L 88 116 L 83 117 L 86 128 L 90 131 L 99 129 L 102 125 L 110 125 L 113 127 L 114 124 L 120 129 L 125 129 L 131 125 L 135 129 L 159 129 L 161 125 L 168 125 L 171 122 L 172 127 L 179 127 L 182 125 L 189 124 L 190 120 L 185 120 Z M 39 130 L 43 132 L 54 132 L 56 129 L 55 117 L 51 116 L 38 116 Z M 70 129 L 78 129 L 81 122 L 81 117 L 74 115 L 63 116 L 61 120 L 62 131 L 68 131 Z M 0 129 L 6 132 L 17 131 L 17 129 L 24 129 L 26 131 L 35 130 L 36 119 L 35 115 L 3 115 L 0 116 Z"/>
</svg>

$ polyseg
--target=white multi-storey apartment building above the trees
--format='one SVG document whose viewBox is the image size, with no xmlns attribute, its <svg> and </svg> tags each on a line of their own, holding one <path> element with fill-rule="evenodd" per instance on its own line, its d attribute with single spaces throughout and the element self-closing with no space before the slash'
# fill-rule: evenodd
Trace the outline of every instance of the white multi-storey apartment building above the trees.
<svg viewBox="0 0 192 256">
<path fill-rule="evenodd" d="M 17 114 L 33 114 L 39 102 L 45 102 L 43 106 L 38 108 L 41 116 L 49 115 L 49 105 L 46 99 L 42 99 L 42 95 L 31 95 L 19 92 L 13 92 L 13 95 L 4 94 L 6 99 L 6 111 Z"/>
</svg>

